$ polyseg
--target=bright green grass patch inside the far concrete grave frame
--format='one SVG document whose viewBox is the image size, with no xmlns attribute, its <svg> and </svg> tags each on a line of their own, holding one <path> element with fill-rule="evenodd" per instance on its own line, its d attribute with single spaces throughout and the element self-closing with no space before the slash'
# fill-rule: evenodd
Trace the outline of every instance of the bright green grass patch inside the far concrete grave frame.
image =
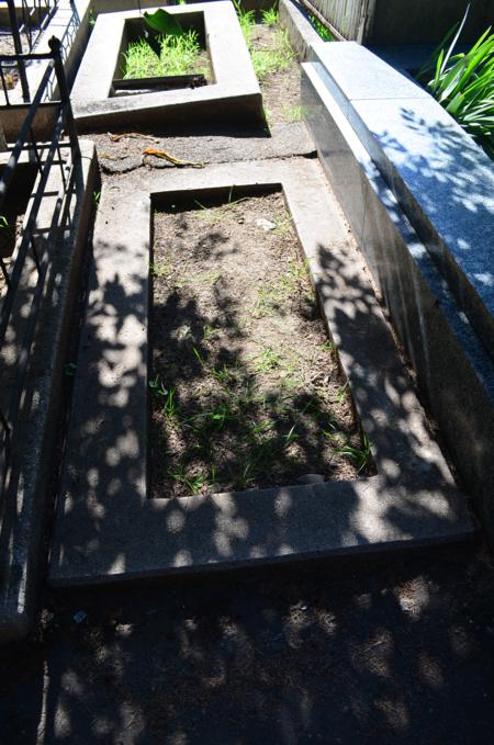
<svg viewBox="0 0 494 745">
<path fill-rule="evenodd" d="M 203 69 L 197 69 L 197 58 L 201 54 L 198 39 L 198 33 L 192 30 L 173 36 L 161 36 L 159 56 L 151 49 L 146 39 L 141 38 L 137 42 L 132 42 L 127 52 L 124 53 L 124 78 L 153 78 L 203 72 Z"/>
</svg>

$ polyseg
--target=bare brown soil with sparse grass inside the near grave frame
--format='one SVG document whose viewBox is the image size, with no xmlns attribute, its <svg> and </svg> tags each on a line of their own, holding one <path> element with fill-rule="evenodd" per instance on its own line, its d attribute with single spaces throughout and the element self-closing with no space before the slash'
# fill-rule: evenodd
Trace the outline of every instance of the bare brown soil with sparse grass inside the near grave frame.
<svg viewBox="0 0 494 745">
<path fill-rule="evenodd" d="M 282 196 L 177 205 L 154 230 L 153 496 L 355 478 L 358 422 Z"/>
</svg>

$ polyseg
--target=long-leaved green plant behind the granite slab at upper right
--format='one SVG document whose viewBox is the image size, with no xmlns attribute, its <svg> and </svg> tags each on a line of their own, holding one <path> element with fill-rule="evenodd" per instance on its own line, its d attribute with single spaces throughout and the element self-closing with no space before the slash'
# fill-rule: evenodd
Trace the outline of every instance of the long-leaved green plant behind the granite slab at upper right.
<svg viewBox="0 0 494 745">
<path fill-rule="evenodd" d="M 468 18 L 451 29 L 418 74 L 427 90 L 494 157 L 494 34 L 484 31 L 467 54 L 453 54 Z M 456 33 L 454 33 L 456 32 Z M 453 36 L 454 34 L 454 36 Z M 449 39 L 452 42 L 447 47 Z"/>
</svg>

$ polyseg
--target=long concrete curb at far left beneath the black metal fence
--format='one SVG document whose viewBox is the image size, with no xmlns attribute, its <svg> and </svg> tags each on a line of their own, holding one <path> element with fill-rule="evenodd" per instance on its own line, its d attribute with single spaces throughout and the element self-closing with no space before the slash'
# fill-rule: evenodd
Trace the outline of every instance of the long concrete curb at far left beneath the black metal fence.
<svg viewBox="0 0 494 745">
<path fill-rule="evenodd" d="M 75 168 L 69 196 L 61 199 L 61 179 L 55 166 L 36 221 L 36 235 L 50 241 L 54 255 L 27 372 L 31 395 L 22 403 L 8 487 L 1 503 L 1 640 L 25 634 L 33 620 L 41 568 L 40 544 L 48 484 L 55 467 L 53 450 L 59 426 L 59 390 L 96 177 L 93 144 L 81 142 L 80 145 L 82 160 Z M 29 302 L 26 297 L 25 303 Z M 3 380 L 5 374 L 2 368 Z"/>
</svg>

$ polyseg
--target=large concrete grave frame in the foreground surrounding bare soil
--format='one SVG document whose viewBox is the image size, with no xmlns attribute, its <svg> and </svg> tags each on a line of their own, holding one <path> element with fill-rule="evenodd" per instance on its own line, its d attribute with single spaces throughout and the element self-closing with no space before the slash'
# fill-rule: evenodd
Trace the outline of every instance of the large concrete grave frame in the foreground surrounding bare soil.
<svg viewBox="0 0 494 745">
<path fill-rule="evenodd" d="M 228 193 L 232 185 L 277 184 L 337 340 L 379 475 L 352 483 L 147 499 L 149 195 L 153 201 L 164 193 Z M 472 534 L 464 498 L 428 433 L 317 162 L 244 162 L 162 174 L 141 169 L 132 180 L 115 177 L 100 203 L 94 261 L 99 282 L 89 298 L 78 363 L 53 584 L 226 568 Z"/>
</svg>

